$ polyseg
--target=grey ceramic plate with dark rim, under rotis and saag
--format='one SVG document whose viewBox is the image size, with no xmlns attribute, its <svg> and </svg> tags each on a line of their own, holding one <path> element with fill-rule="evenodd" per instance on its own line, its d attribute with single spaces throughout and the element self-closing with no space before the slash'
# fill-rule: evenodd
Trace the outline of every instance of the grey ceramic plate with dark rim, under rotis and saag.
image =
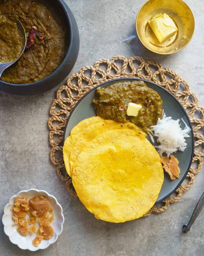
<svg viewBox="0 0 204 256">
<path fill-rule="evenodd" d="M 143 80 L 137 78 L 118 78 L 108 82 L 104 82 L 98 86 L 107 87 L 115 82 L 121 81 L 132 81 L 132 80 Z M 188 115 L 181 105 L 181 103 L 166 89 L 155 84 L 153 82 L 143 80 L 147 86 L 156 92 L 159 93 L 161 99 L 163 100 L 163 110 L 167 116 L 172 116 L 172 119 L 180 119 L 183 118 L 184 122 L 191 128 L 191 132 L 189 133 L 190 137 L 186 138 L 187 147 L 184 152 L 177 151 L 175 157 L 179 160 L 179 167 L 181 169 L 180 177 L 176 178 L 175 180 L 171 180 L 169 175 L 164 172 L 164 183 L 162 185 L 161 191 L 157 198 L 156 204 L 170 196 L 183 182 L 184 178 L 186 177 L 190 165 L 193 159 L 194 153 L 194 135 L 193 135 L 193 128 L 188 118 Z M 77 125 L 80 121 L 89 118 L 91 116 L 96 116 L 95 108 L 92 104 L 92 100 L 95 97 L 95 90 L 98 87 L 94 87 L 92 90 L 88 91 L 80 101 L 75 105 L 74 109 L 69 115 L 67 120 L 67 124 L 65 127 L 64 138 L 63 141 L 70 135 L 71 129 Z M 185 127 L 184 123 L 181 121 L 181 128 Z M 148 136 L 147 139 L 149 140 Z M 149 140 L 150 141 L 150 140 Z"/>
</svg>

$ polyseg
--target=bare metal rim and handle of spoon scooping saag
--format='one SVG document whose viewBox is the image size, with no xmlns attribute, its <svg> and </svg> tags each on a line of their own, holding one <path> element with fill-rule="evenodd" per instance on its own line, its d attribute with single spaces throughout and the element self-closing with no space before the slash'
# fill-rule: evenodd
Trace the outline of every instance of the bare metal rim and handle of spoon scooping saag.
<svg viewBox="0 0 204 256">
<path fill-rule="evenodd" d="M 7 15 L 3 15 L 3 16 L 7 16 Z M 24 51 L 24 49 L 25 49 L 25 45 L 26 45 L 25 29 L 24 29 L 23 25 L 20 23 L 20 21 L 19 21 L 17 18 L 15 18 L 15 19 L 16 19 L 17 28 L 18 28 L 18 30 L 19 30 L 21 36 L 22 36 L 22 48 L 21 48 L 21 53 L 20 53 L 20 55 L 18 56 L 17 59 L 12 60 L 11 62 L 6 62 L 6 63 L 0 62 L 0 77 L 1 77 L 1 75 L 2 75 L 2 73 L 3 73 L 3 71 L 4 71 L 6 68 L 8 68 L 8 67 L 11 66 L 12 64 L 14 64 L 14 63 L 21 57 L 21 55 L 23 54 L 23 51 Z"/>
</svg>

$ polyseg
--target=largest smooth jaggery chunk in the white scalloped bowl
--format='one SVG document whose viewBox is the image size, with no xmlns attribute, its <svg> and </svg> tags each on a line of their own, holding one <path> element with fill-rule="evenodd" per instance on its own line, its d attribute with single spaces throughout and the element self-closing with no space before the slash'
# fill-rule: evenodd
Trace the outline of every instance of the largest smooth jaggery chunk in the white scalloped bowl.
<svg viewBox="0 0 204 256">
<path fill-rule="evenodd" d="M 41 216 L 48 213 L 50 209 L 50 203 L 46 197 L 39 195 L 29 199 L 30 210 L 32 215 Z"/>
</svg>

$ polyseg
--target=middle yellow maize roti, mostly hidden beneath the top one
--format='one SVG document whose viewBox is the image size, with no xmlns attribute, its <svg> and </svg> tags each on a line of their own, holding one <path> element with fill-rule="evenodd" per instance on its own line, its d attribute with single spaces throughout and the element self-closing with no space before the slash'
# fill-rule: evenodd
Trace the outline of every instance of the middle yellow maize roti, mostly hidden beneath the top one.
<svg viewBox="0 0 204 256">
<path fill-rule="evenodd" d="M 93 140 L 96 136 L 101 133 L 107 132 L 109 130 L 117 130 L 117 129 L 130 129 L 137 133 L 140 133 L 142 136 L 146 136 L 141 129 L 139 129 L 135 124 L 127 122 L 127 123 L 120 123 L 112 120 L 104 120 L 103 122 L 95 123 L 88 126 L 83 132 L 80 134 L 77 142 L 74 144 L 72 151 L 70 152 L 69 156 L 69 164 L 70 164 L 70 174 L 72 176 L 73 172 L 73 164 L 77 160 L 79 154 L 89 143 Z"/>
</svg>

